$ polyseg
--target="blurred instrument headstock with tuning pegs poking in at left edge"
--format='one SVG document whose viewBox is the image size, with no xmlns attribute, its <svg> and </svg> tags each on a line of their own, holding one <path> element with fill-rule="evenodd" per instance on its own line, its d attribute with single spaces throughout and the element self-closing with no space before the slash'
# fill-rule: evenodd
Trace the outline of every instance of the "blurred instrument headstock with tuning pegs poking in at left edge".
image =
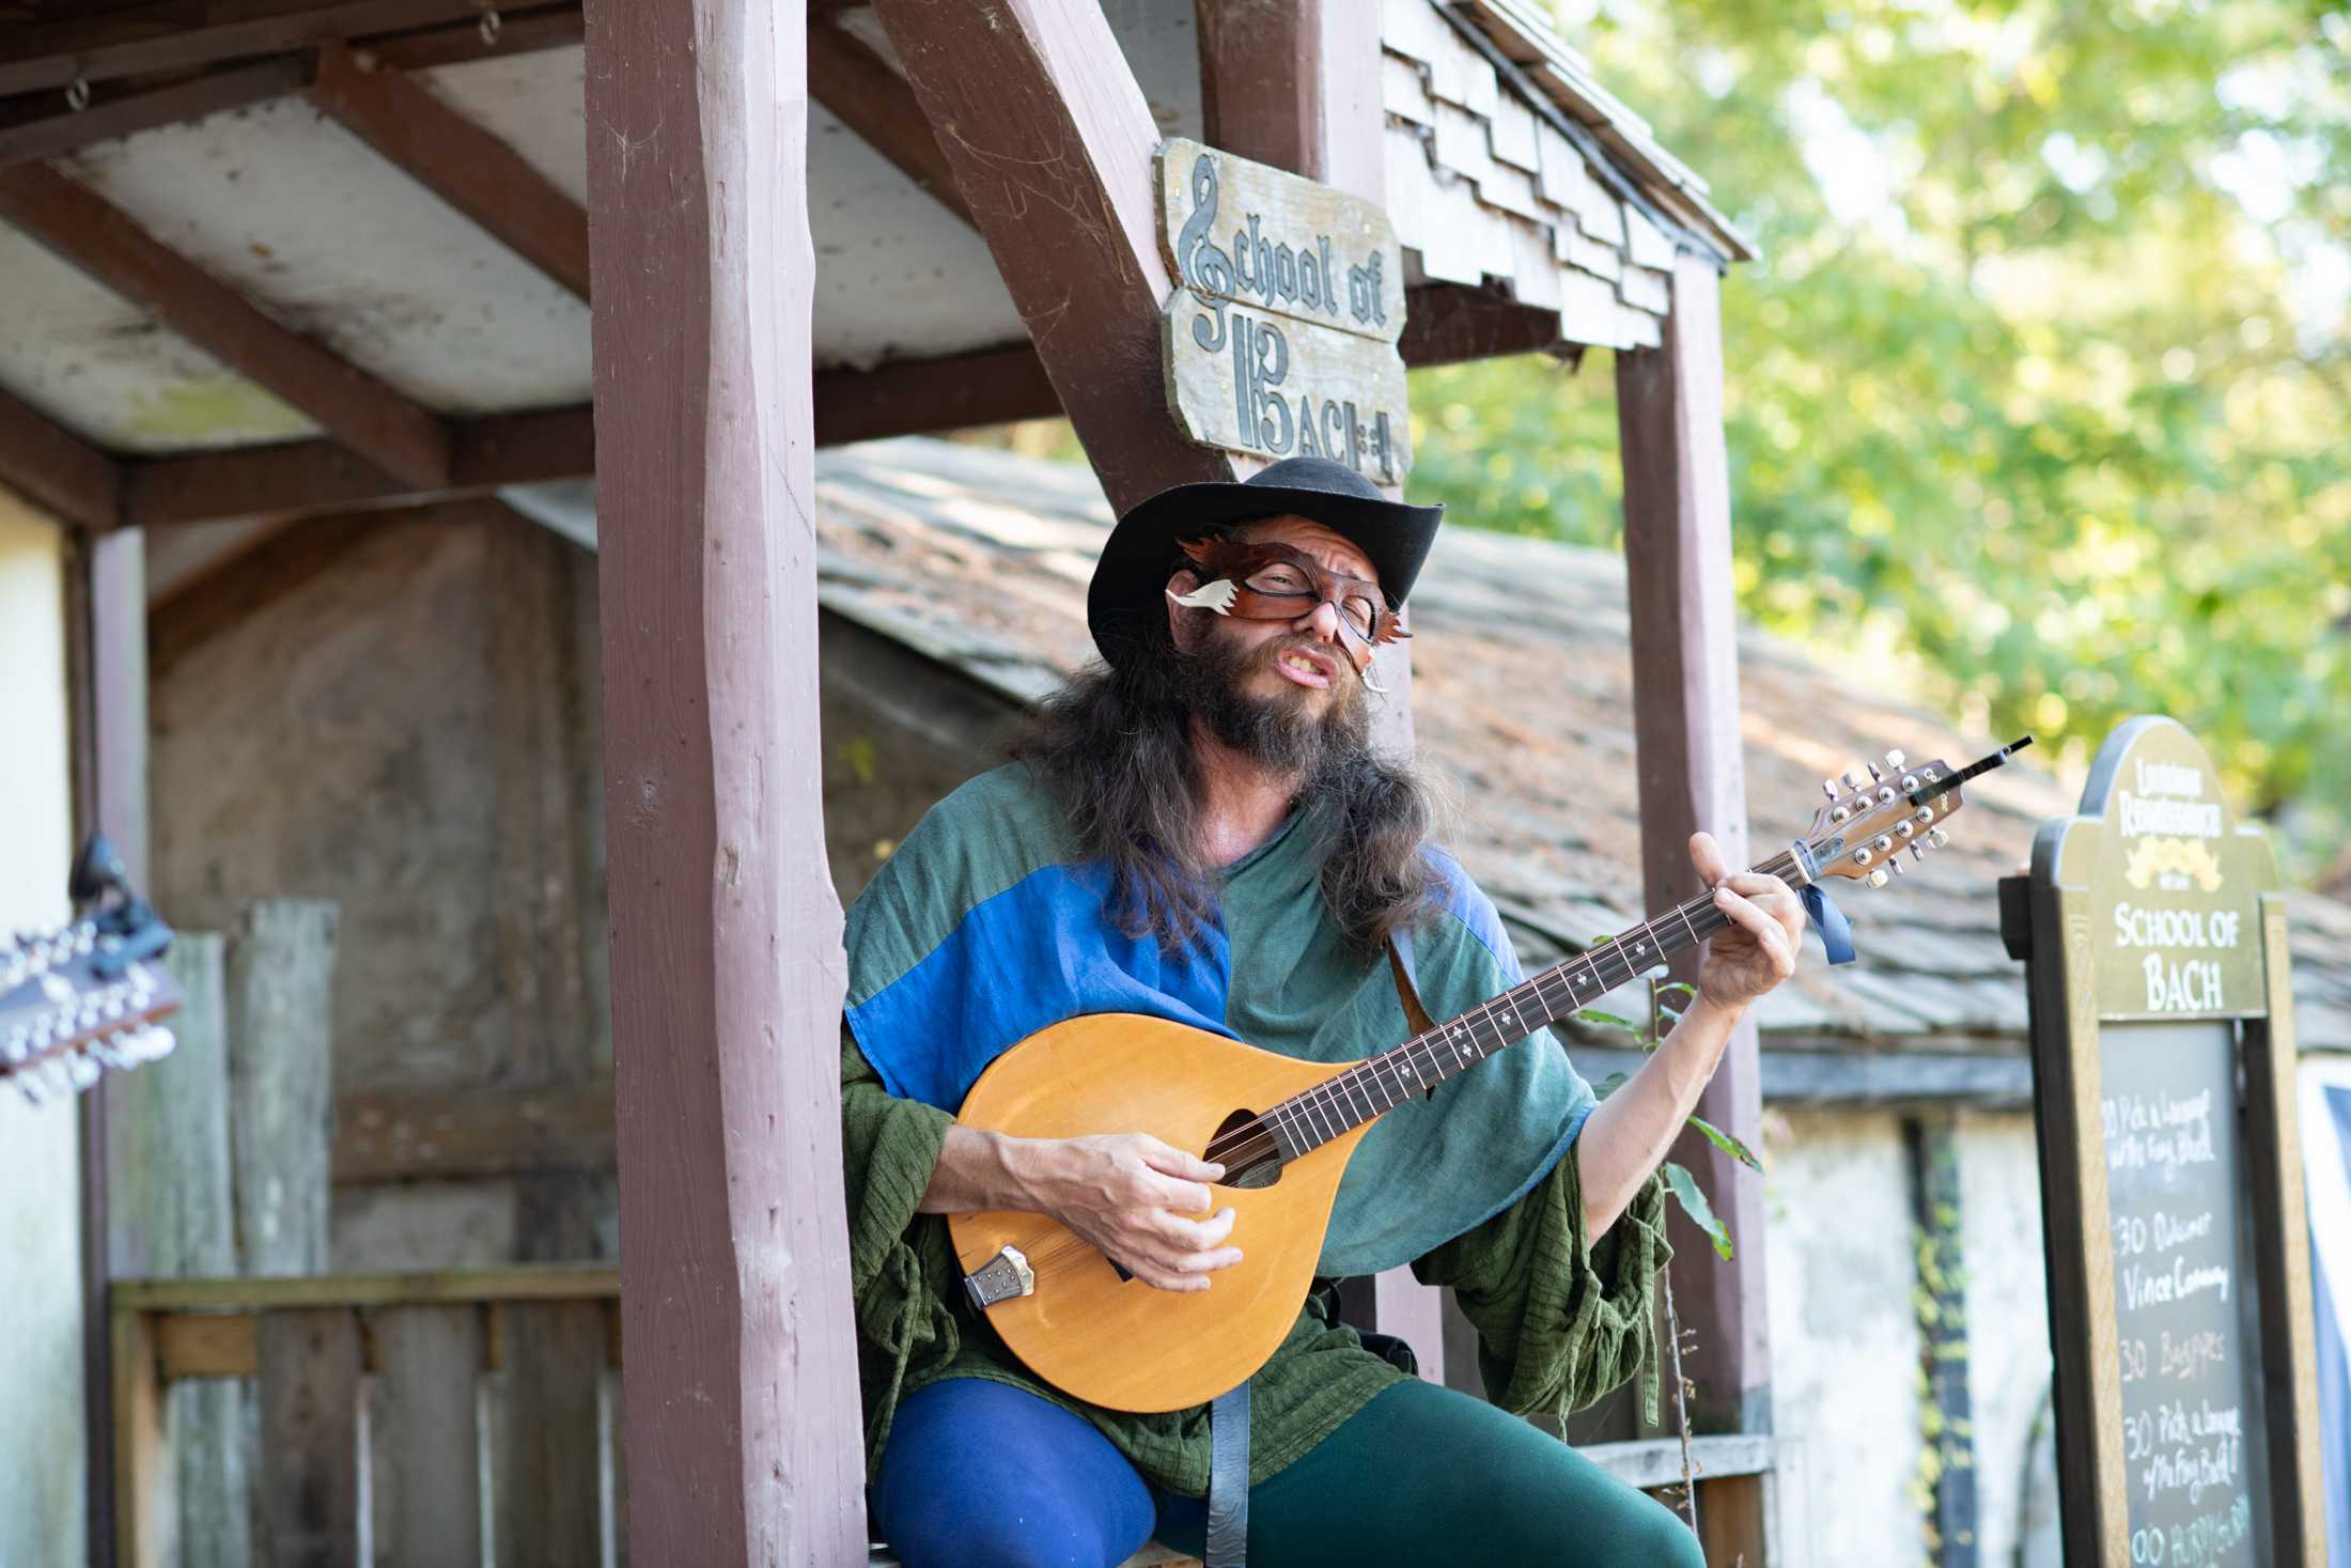
<svg viewBox="0 0 2351 1568">
<path fill-rule="evenodd" d="M 73 893 L 87 905 L 80 919 L 0 938 L 0 1079 L 35 1105 L 165 1056 L 172 1032 L 155 1020 L 181 1004 L 155 961 L 172 929 L 129 891 L 103 839 L 75 863 Z"/>
</svg>

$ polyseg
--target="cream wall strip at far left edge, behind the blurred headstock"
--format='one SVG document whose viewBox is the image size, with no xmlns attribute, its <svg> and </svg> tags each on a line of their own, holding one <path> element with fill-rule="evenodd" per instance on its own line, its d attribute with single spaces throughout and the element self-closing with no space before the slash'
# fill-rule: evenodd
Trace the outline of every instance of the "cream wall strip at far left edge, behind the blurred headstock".
<svg viewBox="0 0 2351 1568">
<path fill-rule="evenodd" d="M 0 929 L 68 914 L 63 548 L 0 494 Z M 0 1568 L 78 1563 L 82 1528 L 80 1133 L 71 1103 L 0 1086 Z"/>
</svg>

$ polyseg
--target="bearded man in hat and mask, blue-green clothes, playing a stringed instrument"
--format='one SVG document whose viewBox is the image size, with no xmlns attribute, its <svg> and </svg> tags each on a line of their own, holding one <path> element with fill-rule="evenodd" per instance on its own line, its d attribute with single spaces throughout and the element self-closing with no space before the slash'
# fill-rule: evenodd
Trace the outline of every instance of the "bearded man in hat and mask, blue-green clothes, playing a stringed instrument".
<svg viewBox="0 0 2351 1568">
<path fill-rule="evenodd" d="M 1451 1018 L 1523 978 L 1493 903 L 1429 842 L 1425 788 L 1371 748 L 1373 646 L 1404 635 L 1436 522 L 1324 458 L 1140 503 L 1089 590 L 1105 665 L 851 907 L 872 1512 L 912 1568 L 1093 1568 L 1152 1537 L 1260 1568 L 1702 1568 L 1672 1512 L 1519 1418 L 1587 1406 L 1655 1354 L 1657 1164 L 1742 1011 L 1794 971 L 1801 903 L 1707 835 L 1690 860 L 1730 924 L 1629 1081 L 1596 1103 L 1538 1032 L 1382 1114 L 1340 1182 L 1317 1274 L 1411 1265 L 1453 1286 L 1493 1403 L 1411 1378 L 1319 1291 L 1213 1418 L 1096 1408 L 1020 1366 L 947 1244 L 950 1213 L 1044 1213 L 1159 1291 L 1213 1291 L 1251 1244 L 1215 1201 L 1225 1171 L 1143 1128 L 955 1121 L 980 1070 L 1051 1023 L 1152 1013 L 1338 1065 L 1413 1034 L 1413 992 Z"/>
</svg>

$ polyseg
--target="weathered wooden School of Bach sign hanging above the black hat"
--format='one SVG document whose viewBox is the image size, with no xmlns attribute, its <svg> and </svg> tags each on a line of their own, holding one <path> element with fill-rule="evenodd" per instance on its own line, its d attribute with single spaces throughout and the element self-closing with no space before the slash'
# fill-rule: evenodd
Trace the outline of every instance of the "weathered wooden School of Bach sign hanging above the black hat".
<svg viewBox="0 0 2351 1568">
<path fill-rule="evenodd" d="M 1404 252 L 1375 202 L 1176 139 L 1159 148 L 1159 242 L 1178 280 L 1168 411 L 1187 437 L 1404 482 Z"/>
</svg>

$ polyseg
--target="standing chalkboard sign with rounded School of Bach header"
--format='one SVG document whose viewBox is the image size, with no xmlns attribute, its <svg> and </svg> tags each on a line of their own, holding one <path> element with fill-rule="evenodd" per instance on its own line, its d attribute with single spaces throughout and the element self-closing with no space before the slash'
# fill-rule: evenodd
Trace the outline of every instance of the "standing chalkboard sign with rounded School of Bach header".
<svg viewBox="0 0 2351 1568">
<path fill-rule="evenodd" d="M 2067 1563 L 2323 1568 L 2285 898 L 2172 719 L 2001 884 L 2029 964 Z"/>
</svg>

